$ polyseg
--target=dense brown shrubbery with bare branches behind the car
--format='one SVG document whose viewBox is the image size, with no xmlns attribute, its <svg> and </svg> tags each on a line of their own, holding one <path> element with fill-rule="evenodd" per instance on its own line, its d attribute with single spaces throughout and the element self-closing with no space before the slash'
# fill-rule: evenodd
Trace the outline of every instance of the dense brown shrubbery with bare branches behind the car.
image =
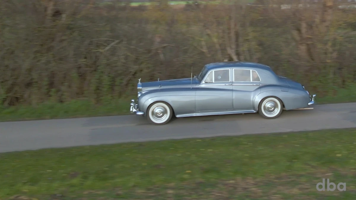
<svg viewBox="0 0 356 200">
<path fill-rule="evenodd" d="M 355 83 L 356 12 L 240 5 L 130 7 L 2 0 L 2 105 L 120 98 L 138 78 L 190 77 L 204 64 L 270 65 L 319 93 Z"/>
</svg>

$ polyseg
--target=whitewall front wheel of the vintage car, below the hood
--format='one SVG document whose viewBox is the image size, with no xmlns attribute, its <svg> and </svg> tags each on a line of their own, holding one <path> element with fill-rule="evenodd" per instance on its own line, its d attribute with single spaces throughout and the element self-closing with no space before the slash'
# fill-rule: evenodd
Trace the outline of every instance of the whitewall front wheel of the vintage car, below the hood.
<svg viewBox="0 0 356 200">
<path fill-rule="evenodd" d="M 152 103 L 147 109 L 147 119 L 154 125 L 164 125 L 172 119 L 172 107 L 163 101 Z"/>
</svg>

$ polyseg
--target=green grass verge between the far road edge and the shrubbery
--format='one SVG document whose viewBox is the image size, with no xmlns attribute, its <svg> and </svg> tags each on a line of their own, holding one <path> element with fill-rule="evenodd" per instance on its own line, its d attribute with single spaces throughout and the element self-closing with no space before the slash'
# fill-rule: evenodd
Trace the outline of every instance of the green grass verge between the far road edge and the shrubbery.
<svg viewBox="0 0 356 200">
<path fill-rule="evenodd" d="M 135 96 L 133 99 L 137 99 Z M 94 104 L 90 100 L 73 100 L 67 103 L 46 102 L 38 106 L 0 107 L 0 121 L 59 119 L 72 117 L 92 117 L 129 114 L 130 100 L 111 99 L 102 104 Z M 356 102 L 356 85 L 337 89 L 333 96 L 316 96 L 317 104 Z"/>
</svg>

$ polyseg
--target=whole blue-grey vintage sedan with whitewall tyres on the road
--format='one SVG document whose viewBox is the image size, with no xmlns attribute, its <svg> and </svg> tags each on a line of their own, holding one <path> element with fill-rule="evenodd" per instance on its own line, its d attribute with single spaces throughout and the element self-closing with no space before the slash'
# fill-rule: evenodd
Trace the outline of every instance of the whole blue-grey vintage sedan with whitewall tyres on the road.
<svg viewBox="0 0 356 200">
<path fill-rule="evenodd" d="M 304 86 L 276 75 L 263 64 L 220 62 L 204 66 L 199 75 L 186 79 L 137 84 L 138 100 L 131 114 L 146 116 L 155 125 L 172 116 L 189 117 L 258 112 L 275 119 L 283 110 L 313 109 L 315 94 Z"/>
</svg>

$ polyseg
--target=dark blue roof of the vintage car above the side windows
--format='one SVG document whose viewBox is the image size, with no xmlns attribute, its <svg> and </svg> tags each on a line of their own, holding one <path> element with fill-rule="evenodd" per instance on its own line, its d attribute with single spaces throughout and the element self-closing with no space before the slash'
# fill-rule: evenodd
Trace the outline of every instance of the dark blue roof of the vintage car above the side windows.
<svg viewBox="0 0 356 200">
<path fill-rule="evenodd" d="M 210 64 L 206 64 L 205 67 L 208 70 L 220 69 L 225 67 L 241 67 L 241 68 L 246 67 L 246 68 L 271 70 L 271 68 L 267 65 L 263 65 L 259 63 L 251 63 L 251 62 L 239 62 L 239 61 L 210 63 Z"/>
</svg>

